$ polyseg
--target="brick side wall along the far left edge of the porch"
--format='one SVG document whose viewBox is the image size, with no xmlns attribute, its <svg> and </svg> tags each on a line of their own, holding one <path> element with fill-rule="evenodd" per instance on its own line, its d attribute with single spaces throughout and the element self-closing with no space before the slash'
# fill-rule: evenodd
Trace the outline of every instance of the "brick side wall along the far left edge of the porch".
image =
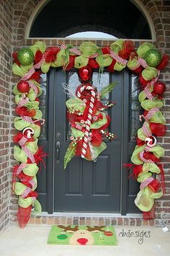
<svg viewBox="0 0 170 256">
<path fill-rule="evenodd" d="M 0 4 L 0 231 L 9 222 L 9 133 L 13 2 Z"/>
</svg>

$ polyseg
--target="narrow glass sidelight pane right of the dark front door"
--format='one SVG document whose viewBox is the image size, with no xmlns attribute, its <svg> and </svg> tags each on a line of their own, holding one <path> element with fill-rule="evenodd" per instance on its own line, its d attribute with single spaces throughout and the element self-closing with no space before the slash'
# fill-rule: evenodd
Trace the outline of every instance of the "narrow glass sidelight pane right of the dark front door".
<svg viewBox="0 0 170 256">
<path fill-rule="evenodd" d="M 142 112 L 142 107 L 138 101 L 138 94 L 140 92 L 140 84 L 138 83 L 138 76 L 132 75 L 131 79 L 131 128 L 130 128 L 130 141 L 134 141 L 136 133 L 141 127 L 139 115 Z"/>
</svg>

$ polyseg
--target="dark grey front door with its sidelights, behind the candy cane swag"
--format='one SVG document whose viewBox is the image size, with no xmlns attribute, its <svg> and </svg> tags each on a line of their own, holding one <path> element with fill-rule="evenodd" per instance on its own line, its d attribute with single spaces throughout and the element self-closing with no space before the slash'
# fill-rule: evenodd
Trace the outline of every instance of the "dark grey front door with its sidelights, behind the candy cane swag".
<svg viewBox="0 0 170 256">
<path fill-rule="evenodd" d="M 66 170 L 63 169 L 63 159 L 70 143 L 69 123 L 66 120 L 67 96 L 63 92 L 63 83 L 69 84 L 73 92 L 80 81 L 76 70 L 63 72 L 61 69 L 51 69 L 48 76 L 48 104 L 45 105 L 47 116 L 46 139 L 40 144 L 48 151 L 46 169 L 40 173 L 39 190 L 45 187 L 46 193 L 40 191 L 40 201 L 43 211 L 76 211 L 76 212 L 112 212 L 122 213 L 130 209 L 134 196 L 128 195 L 132 190 L 127 182 L 127 174 L 122 164 L 129 162 L 128 156 L 134 142 L 128 141 L 129 115 L 129 84 L 127 71 L 109 74 L 104 72 L 100 77 L 94 71 L 92 83 L 100 91 L 111 81 L 119 84 L 109 93 L 106 100 L 116 102 L 109 108 L 107 115 L 111 118 L 109 131 L 115 133 L 115 140 L 104 141 L 107 144 L 97 162 L 89 162 L 80 156 L 73 157 Z M 129 145 L 129 147 L 128 147 Z M 132 148 L 132 149 L 131 149 Z M 42 177 L 41 177 L 42 175 Z M 133 182 L 134 183 L 134 182 Z M 131 182 L 133 191 L 136 184 Z M 43 185 L 42 185 L 43 184 Z M 135 192 L 136 193 L 136 192 Z M 126 207 L 129 200 L 128 207 Z M 134 212 L 134 206 L 132 210 Z M 136 209 L 135 209 L 136 211 Z"/>
</svg>

